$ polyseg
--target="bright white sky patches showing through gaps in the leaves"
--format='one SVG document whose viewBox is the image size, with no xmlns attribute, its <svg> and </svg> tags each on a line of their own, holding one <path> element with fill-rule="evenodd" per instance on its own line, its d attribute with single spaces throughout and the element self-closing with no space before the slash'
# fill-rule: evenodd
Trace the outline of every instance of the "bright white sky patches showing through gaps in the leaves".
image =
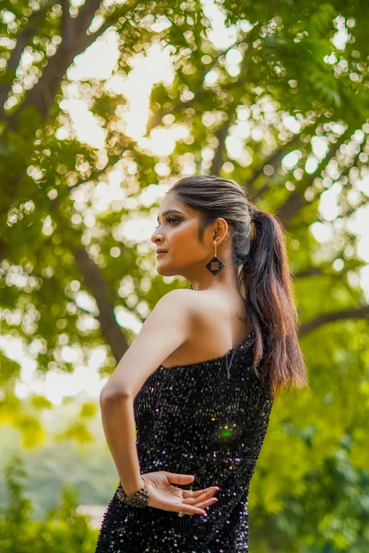
<svg viewBox="0 0 369 553">
<path fill-rule="evenodd" d="M 212 0 L 203 2 L 207 15 L 211 18 L 213 23 L 213 31 L 209 38 L 216 44 L 218 49 L 227 49 L 232 46 L 235 41 L 235 26 L 225 28 L 223 15 Z M 165 20 L 160 24 L 165 25 Z M 250 30 L 251 25 L 246 20 L 243 21 L 240 26 L 242 30 Z M 176 124 L 172 125 L 170 129 L 153 129 L 150 136 L 144 136 L 146 133 L 146 124 L 148 119 L 148 100 L 151 93 L 151 88 L 155 83 L 159 81 L 171 82 L 173 78 L 173 69 L 170 61 L 170 48 L 161 49 L 159 45 L 153 46 L 151 52 L 144 57 L 142 54 L 137 54 L 134 59 L 134 64 L 128 76 L 122 76 L 114 73 L 117 60 L 119 58 L 119 51 L 117 48 L 117 32 L 114 28 L 108 29 L 100 40 L 93 43 L 83 54 L 76 57 L 75 65 L 69 69 L 68 77 L 71 81 L 68 90 L 65 93 L 66 99 L 61 102 L 61 108 L 70 116 L 73 124 L 74 132 L 79 141 L 88 143 L 94 148 L 103 150 L 105 145 L 105 130 L 101 128 L 98 119 L 88 109 L 88 104 L 83 98 L 80 97 L 78 92 L 78 81 L 82 78 L 98 78 L 101 81 L 105 81 L 105 87 L 108 90 L 114 91 L 117 95 L 122 95 L 127 102 L 122 102 L 122 130 L 128 136 L 134 138 L 137 141 L 140 148 L 145 148 L 159 158 L 163 157 L 163 160 L 159 160 L 156 164 L 156 172 L 158 176 L 165 177 L 168 175 L 168 166 L 165 163 L 165 157 L 172 153 L 175 148 L 175 143 L 179 138 L 186 138 L 188 136 L 188 129 L 184 125 Z M 338 25 L 336 35 L 333 39 L 335 46 L 338 49 L 343 49 L 346 41 L 348 40 L 346 28 L 341 24 Z M 334 63 L 334 61 L 327 57 L 327 63 Z M 227 54 L 227 70 L 231 75 L 237 75 L 240 72 L 239 63 L 241 57 L 240 53 L 236 49 L 230 49 Z M 27 61 L 27 60 L 25 60 Z M 206 80 L 209 83 L 216 82 L 217 74 L 215 71 L 209 71 L 206 76 Z M 273 107 L 270 108 L 270 112 L 273 112 Z M 250 109 L 247 107 L 240 108 L 238 114 L 238 124 L 230 129 L 230 136 L 227 138 L 226 148 L 228 155 L 231 159 L 242 162 L 243 165 L 248 165 L 251 161 L 250 154 L 245 150 L 245 138 L 252 136 L 254 140 L 261 140 L 265 136 L 265 131 L 261 126 L 253 126 L 250 119 Z M 204 124 L 209 121 L 211 124 L 211 117 L 213 114 L 210 112 L 204 114 Z M 170 119 L 166 121 L 170 124 Z M 286 129 L 291 132 L 300 131 L 300 122 L 295 117 L 286 114 L 281 123 Z M 340 129 L 336 129 L 339 134 Z M 68 125 L 62 125 L 57 131 L 57 137 L 63 140 L 69 136 L 70 129 Z M 360 132 L 357 131 L 358 141 L 361 140 Z M 259 136 L 259 138 L 257 138 Z M 190 142 L 189 142 L 190 143 Z M 309 173 L 315 171 L 317 163 L 327 153 L 327 140 L 323 137 L 315 137 L 313 141 L 312 155 L 307 160 L 305 170 Z M 186 158 L 183 166 L 184 174 L 191 174 L 194 172 L 194 163 L 192 161 L 189 147 L 189 155 Z M 203 151 L 203 159 L 206 160 L 206 156 L 211 153 Z M 293 167 L 298 163 L 300 159 L 300 151 L 295 150 L 286 157 L 283 158 L 283 166 L 288 170 L 293 170 Z M 211 157 L 208 157 L 211 159 Z M 230 164 L 232 165 L 232 164 Z M 127 168 L 128 173 L 134 174 L 134 167 Z M 332 178 L 334 175 L 332 175 Z M 93 194 L 95 199 L 95 213 L 99 210 L 104 210 L 107 203 L 115 201 L 122 201 L 124 198 L 124 189 L 122 189 L 122 180 L 124 174 L 120 170 L 116 170 L 110 173 L 107 183 L 99 183 L 98 186 L 88 194 Z M 364 194 L 369 194 L 369 172 L 368 175 L 356 180 L 356 187 L 353 188 L 353 194 L 357 194 L 357 191 L 362 191 Z M 99 188 L 100 186 L 100 188 Z M 339 222 L 336 222 L 337 204 L 336 198 L 340 192 L 340 184 L 336 183 L 329 189 L 323 192 L 322 199 L 320 201 L 320 210 L 322 213 L 322 219 L 324 222 L 317 222 L 312 225 L 311 230 L 314 236 L 324 243 L 332 241 L 334 230 L 339 230 Z M 141 201 L 146 205 L 151 205 L 160 196 L 163 196 L 167 187 L 163 184 L 159 186 L 151 186 L 142 195 Z M 77 198 L 77 202 L 81 202 L 81 213 L 87 219 L 87 226 L 93 228 L 94 226 L 94 213 L 87 213 L 83 210 L 83 194 L 87 192 L 79 191 L 80 195 Z M 354 197 L 353 197 L 354 200 Z M 133 206 L 132 206 L 133 207 Z M 77 215 L 79 216 L 79 215 Z M 359 208 L 356 215 L 353 216 L 351 221 L 351 230 L 357 232 L 359 235 L 358 253 L 364 261 L 369 263 L 369 240 L 364 230 L 368 228 L 367 222 L 369 218 L 369 208 Z M 86 219 L 85 219 L 86 222 Z M 144 221 L 131 221 L 127 223 L 119 232 L 124 234 L 125 238 L 136 240 L 137 242 L 143 242 L 142 247 L 146 247 L 146 251 L 149 251 L 152 246 L 150 237 L 155 225 L 155 218 L 153 220 Z M 47 229 L 47 222 L 44 222 L 45 234 L 52 232 L 52 228 Z M 113 251 L 115 250 L 115 251 Z M 114 248 L 111 251 L 113 257 L 119 256 L 119 248 Z M 336 263 L 334 269 L 341 270 L 343 265 Z M 18 275 L 18 278 L 19 275 Z M 354 282 L 353 282 L 354 283 Z M 361 272 L 361 284 L 365 289 L 367 299 L 369 301 L 369 266 L 366 266 Z M 129 277 L 122 279 L 121 289 L 119 294 L 127 297 L 129 294 L 130 280 Z M 94 300 L 86 294 L 86 292 L 80 292 L 79 283 L 74 281 L 71 283 L 71 293 L 74 294 L 74 299 L 77 304 L 88 309 L 91 315 L 86 314 L 81 325 L 85 328 L 93 326 L 95 319 L 93 313 L 96 310 Z M 143 307 L 144 309 L 144 307 Z M 117 321 L 121 326 L 132 328 L 136 333 L 139 332 L 141 323 L 123 308 L 116 311 Z M 16 359 L 21 364 L 21 382 L 16 386 L 16 394 L 19 398 L 28 396 L 28 393 L 34 391 L 35 393 L 45 394 L 45 396 L 54 404 L 61 403 L 61 400 L 65 396 L 78 396 L 78 394 L 87 394 L 88 396 L 98 397 L 100 389 L 102 388 L 105 380 L 100 379 L 98 374 L 99 367 L 103 364 L 105 359 L 105 348 L 96 347 L 89 352 L 82 352 L 78 347 L 69 347 L 67 344 L 68 338 L 66 337 L 63 344 L 63 338 L 61 337 L 61 347 L 59 350 L 60 359 L 68 362 L 73 362 L 75 370 L 73 374 L 66 374 L 63 371 L 52 369 L 48 371 L 45 378 L 37 375 L 37 352 L 42 349 L 42 343 L 40 340 L 35 340 L 35 343 L 27 352 L 19 338 L 13 338 L 11 336 L 0 336 L 0 349 L 5 352 L 11 359 Z M 88 359 L 86 361 L 86 357 Z"/>
</svg>

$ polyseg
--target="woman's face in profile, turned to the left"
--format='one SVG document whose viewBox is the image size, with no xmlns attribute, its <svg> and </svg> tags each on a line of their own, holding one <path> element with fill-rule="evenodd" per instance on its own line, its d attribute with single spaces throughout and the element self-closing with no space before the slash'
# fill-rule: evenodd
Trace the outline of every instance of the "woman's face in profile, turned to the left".
<svg viewBox="0 0 369 553">
<path fill-rule="evenodd" d="M 182 275 L 191 278 L 202 271 L 213 254 L 211 227 L 204 232 L 204 244 L 199 242 L 199 213 L 178 201 L 174 193 L 168 193 L 160 204 L 158 227 L 151 237 L 157 254 L 157 270 L 160 275 Z"/>
</svg>

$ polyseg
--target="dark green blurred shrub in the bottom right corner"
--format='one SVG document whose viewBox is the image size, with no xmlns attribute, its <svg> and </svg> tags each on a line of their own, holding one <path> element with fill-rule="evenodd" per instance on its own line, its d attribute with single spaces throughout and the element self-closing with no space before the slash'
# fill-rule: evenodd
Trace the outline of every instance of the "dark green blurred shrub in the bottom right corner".
<svg viewBox="0 0 369 553">
<path fill-rule="evenodd" d="M 299 478 L 303 493 L 291 480 L 291 491 L 281 497 L 279 512 L 265 513 L 262 507 L 251 511 L 250 546 L 254 543 L 256 553 L 361 553 L 368 549 L 369 477 L 350 462 L 351 445 L 350 436 L 343 436 L 341 448 Z"/>
</svg>

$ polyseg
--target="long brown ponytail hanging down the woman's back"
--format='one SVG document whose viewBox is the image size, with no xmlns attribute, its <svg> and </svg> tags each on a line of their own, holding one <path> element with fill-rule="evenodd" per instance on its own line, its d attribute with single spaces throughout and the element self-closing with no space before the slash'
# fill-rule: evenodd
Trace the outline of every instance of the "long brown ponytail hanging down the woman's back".
<svg viewBox="0 0 369 553">
<path fill-rule="evenodd" d="M 288 267 L 285 231 L 278 218 L 248 204 L 251 220 L 249 253 L 239 278 L 245 287 L 247 316 L 254 337 L 253 369 L 262 365 L 274 397 L 291 384 L 308 386 L 298 344 L 298 314 Z"/>
</svg>

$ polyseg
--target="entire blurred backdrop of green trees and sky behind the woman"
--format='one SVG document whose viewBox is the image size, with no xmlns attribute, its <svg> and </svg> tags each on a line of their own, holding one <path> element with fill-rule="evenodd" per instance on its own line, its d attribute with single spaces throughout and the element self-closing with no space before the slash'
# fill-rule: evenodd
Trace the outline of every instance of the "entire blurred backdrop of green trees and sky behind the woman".
<svg viewBox="0 0 369 553">
<path fill-rule="evenodd" d="M 288 231 L 310 390 L 281 396 L 254 553 L 369 551 L 365 0 L 3 0 L 0 550 L 92 552 L 98 393 L 158 299 L 160 200 L 246 186 Z"/>
</svg>

